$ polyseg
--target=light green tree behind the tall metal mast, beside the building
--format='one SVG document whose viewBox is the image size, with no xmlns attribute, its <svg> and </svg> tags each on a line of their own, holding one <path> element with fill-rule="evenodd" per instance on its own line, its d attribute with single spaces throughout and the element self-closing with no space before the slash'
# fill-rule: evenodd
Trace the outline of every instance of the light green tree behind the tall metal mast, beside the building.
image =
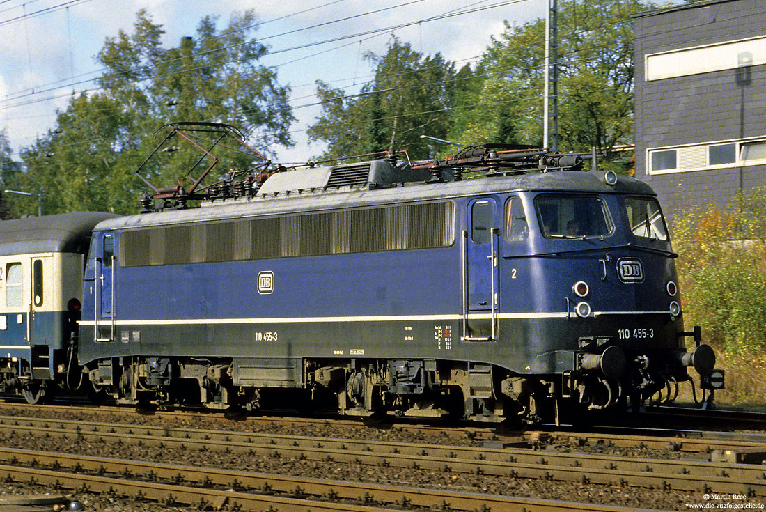
<svg viewBox="0 0 766 512">
<path fill-rule="evenodd" d="M 558 131 L 562 151 L 607 159 L 633 137 L 633 25 L 638 0 L 558 4 Z M 545 21 L 506 22 L 476 68 L 475 93 L 456 105 L 452 139 L 542 146 Z"/>
</svg>

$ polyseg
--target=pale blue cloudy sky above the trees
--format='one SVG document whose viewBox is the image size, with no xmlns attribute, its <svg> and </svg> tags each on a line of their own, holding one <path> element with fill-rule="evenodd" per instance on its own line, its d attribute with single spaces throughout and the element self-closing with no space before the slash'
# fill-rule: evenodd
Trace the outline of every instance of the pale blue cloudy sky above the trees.
<svg viewBox="0 0 766 512">
<path fill-rule="evenodd" d="M 255 35 L 273 52 L 261 63 L 277 69 L 280 84 L 292 89 L 290 104 L 300 107 L 316 101 L 316 80 L 357 92 L 372 74 L 362 56 L 384 54 L 394 35 L 423 54 L 440 52 L 459 68 L 476 62 L 492 36 L 502 34 L 504 20 L 521 25 L 544 16 L 547 5 L 548 0 L 0 0 L 0 130 L 18 159 L 19 149 L 54 128 L 57 110 L 66 108 L 73 93 L 95 89 L 95 56 L 106 38 L 120 30 L 133 33 L 141 8 L 163 25 L 165 48 L 194 36 L 205 16 L 218 17 L 222 28 L 232 12 L 254 10 L 263 22 Z M 448 13 L 453 15 L 429 21 Z M 405 24 L 410 25 L 396 28 Z M 360 35 L 315 44 L 353 34 Z M 305 44 L 315 45 L 285 51 Z M 319 107 L 294 111 L 290 131 L 296 145 L 274 148 L 280 161 L 302 162 L 322 153 L 321 143 L 306 137 L 319 113 Z"/>
</svg>

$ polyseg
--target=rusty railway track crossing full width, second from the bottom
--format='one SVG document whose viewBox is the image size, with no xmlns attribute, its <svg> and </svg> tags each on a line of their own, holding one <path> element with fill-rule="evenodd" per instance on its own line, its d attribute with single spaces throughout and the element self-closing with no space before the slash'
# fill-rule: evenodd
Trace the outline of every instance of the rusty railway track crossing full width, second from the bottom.
<svg viewBox="0 0 766 512">
<path fill-rule="evenodd" d="M 331 464 L 766 496 L 763 466 L 733 462 L 711 464 L 709 460 L 617 457 L 515 446 L 434 445 L 15 417 L 0 418 L 0 432 L 7 438 L 38 436 L 78 443 L 90 441 L 182 451 L 223 451 Z M 763 443 L 749 442 L 746 445 L 749 450 L 766 450 Z"/>
</svg>

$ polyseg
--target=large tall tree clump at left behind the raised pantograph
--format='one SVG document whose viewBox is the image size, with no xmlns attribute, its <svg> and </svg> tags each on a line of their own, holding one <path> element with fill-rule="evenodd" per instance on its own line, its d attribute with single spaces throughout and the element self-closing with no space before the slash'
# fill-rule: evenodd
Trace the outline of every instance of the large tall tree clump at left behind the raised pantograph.
<svg viewBox="0 0 766 512">
<path fill-rule="evenodd" d="M 232 124 L 266 154 L 274 143 L 292 144 L 290 90 L 273 69 L 258 64 L 266 48 L 250 35 L 254 23 L 252 11 L 235 14 L 223 30 L 203 18 L 195 38 L 162 48 L 162 25 L 139 11 L 133 34 L 119 31 L 97 55 L 105 69 L 100 90 L 74 95 L 58 113 L 56 128 L 22 152 L 25 172 L 18 182 L 27 189 L 44 186 L 47 213 L 129 213 L 146 192 L 134 172 L 162 140 L 154 133 L 166 123 Z M 184 146 L 162 153 L 143 173 L 155 185 L 175 185 L 200 156 Z M 216 169 L 250 162 L 241 156 Z"/>
</svg>

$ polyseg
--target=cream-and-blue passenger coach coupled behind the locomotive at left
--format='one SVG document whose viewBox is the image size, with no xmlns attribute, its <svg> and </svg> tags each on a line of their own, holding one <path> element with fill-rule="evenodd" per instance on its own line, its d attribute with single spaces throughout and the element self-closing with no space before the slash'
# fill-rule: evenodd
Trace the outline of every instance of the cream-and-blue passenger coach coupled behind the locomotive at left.
<svg viewBox="0 0 766 512">
<path fill-rule="evenodd" d="M 0 392 L 34 403 L 65 386 L 84 254 L 93 226 L 113 216 L 78 212 L 0 221 Z"/>
</svg>

